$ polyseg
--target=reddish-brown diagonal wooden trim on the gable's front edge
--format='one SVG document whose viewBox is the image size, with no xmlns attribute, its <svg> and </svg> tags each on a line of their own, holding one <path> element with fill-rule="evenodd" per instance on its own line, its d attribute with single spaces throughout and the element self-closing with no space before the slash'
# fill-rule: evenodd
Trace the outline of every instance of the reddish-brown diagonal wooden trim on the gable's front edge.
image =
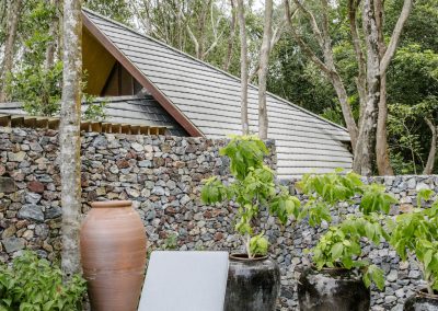
<svg viewBox="0 0 438 311">
<path fill-rule="evenodd" d="M 137 81 L 148 90 L 160 105 L 193 137 L 204 134 L 103 34 L 82 12 L 82 22 L 87 30 L 110 51 Z"/>
</svg>

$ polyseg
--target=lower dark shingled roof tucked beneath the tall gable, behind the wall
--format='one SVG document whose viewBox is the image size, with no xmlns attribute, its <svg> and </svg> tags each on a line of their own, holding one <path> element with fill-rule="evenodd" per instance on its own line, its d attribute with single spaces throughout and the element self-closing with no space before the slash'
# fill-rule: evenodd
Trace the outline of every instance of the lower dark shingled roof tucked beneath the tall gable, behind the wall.
<svg viewBox="0 0 438 311">
<path fill-rule="evenodd" d="M 166 111 L 148 94 L 95 99 L 95 103 L 105 102 L 106 123 L 129 124 L 166 128 L 166 134 L 187 136 L 187 133 L 168 114 Z M 87 104 L 82 105 L 87 110 Z M 0 115 L 27 115 L 22 103 L 1 103 Z"/>
</svg>

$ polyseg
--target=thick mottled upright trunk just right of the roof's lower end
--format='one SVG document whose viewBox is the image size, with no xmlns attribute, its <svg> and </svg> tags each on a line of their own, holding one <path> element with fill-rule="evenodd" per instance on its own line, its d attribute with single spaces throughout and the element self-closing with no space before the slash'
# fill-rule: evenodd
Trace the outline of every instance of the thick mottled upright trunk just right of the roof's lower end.
<svg viewBox="0 0 438 311">
<path fill-rule="evenodd" d="M 372 174 L 377 108 L 380 101 L 379 39 L 373 0 L 365 0 L 362 9 L 364 32 L 367 43 L 367 102 L 359 124 L 359 136 L 354 152 L 353 170 L 364 176 Z"/>
</svg>

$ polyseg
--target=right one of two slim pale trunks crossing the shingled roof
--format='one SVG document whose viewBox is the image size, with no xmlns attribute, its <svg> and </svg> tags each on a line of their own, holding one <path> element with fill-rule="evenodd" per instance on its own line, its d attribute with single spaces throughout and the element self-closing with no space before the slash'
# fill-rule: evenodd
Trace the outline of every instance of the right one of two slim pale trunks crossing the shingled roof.
<svg viewBox="0 0 438 311">
<path fill-rule="evenodd" d="M 269 64 L 270 38 L 273 36 L 273 0 L 265 1 L 265 21 L 258 69 L 258 137 L 267 139 L 266 78 Z"/>
</svg>

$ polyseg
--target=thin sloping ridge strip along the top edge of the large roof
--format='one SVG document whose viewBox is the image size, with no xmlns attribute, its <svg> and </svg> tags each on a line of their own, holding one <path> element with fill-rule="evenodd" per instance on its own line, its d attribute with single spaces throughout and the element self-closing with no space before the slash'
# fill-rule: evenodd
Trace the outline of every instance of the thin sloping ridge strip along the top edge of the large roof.
<svg viewBox="0 0 438 311">
<path fill-rule="evenodd" d="M 239 77 L 235 77 L 235 76 L 231 74 L 230 72 L 227 72 L 227 71 L 224 71 L 224 70 L 222 70 L 222 69 L 220 69 L 220 68 L 217 68 L 217 67 L 212 66 L 211 64 L 208 64 L 208 62 L 206 62 L 206 61 L 204 61 L 204 60 L 200 60 L 200 59 L 198 59 L 198 58 L 196 58 L 196 57 L 194 57 L 194 56 L 192 56 L 192 55 L 189 55 L 189 54 L 187 54 L 187 53 L 185 53 L 185 51 L 182 51 L 182 50 L 180 50 L 180 49 L 177 49 L 177 48 L 175 48 L 175 47 L 173 47 L 173 46 L 170 46 L 170 45 L 166 44 L 166 43 L 163 43 L 163 42 L 161 42 L 161 41 L 159 41 L 159 39 L 157 39 L 157 38 L 153 38 L 153 37 L 150 36 L 150 35 L 142 34 L 142 33 L 140 33 L 140 32 L 134 30 L 134 28 L 130 27 L 130 26 L 127 26 L 127 25 L 125 25 L 125 24 L 122 24 L 120 22 L 114 21 L 114 20 L 112 20 L 112 19 L 110 19 L 110 18 L 107 18 L 107 16 L 104 16 L 104 15 L 97 13 L 97 12 L 94 12 L 93 10 L 90 10 L 90 9 L 87 9 L 87 8 L 82 8 L 82 10 L 83 10 L 85 13 L 93 14 L 93 15 L 95 15 L 95 16 L 97 16 L 97 18 L 101 18 L 101 19 L 103 19 L 103 20 L 106 20 L 106 21 L 108 21 L 108 22 L 111 22 L 111 23 L 113 23 L 113 24 L 117 24 L 117 25 L 119 25 L 119 26 L 122 26 L 122 27 L 124 27 L 124 28 L 126 28 L 126 30 L 128 30 L 128 31 L 130 31 L 130 32 L 132 32 L 132 33 L 135 33 L 135 34 L 137 34 L 137 35 L 140 35 L 140 36 L 142 36 L 142 37 L 145 37 L 145 38 L 147 38 L 147 39 L 153 41 L 153 42 L 155 42 L 155 43 L 158 43 L 158 44 L 160 44 L 160 45 L 162 45 L 162 46 L 164 46 L 164 47 L 166 47 L 166 48 L 170 48 L 170 49 L 172 49 L 172 50 L 174 50 L 174 51 L 176 51 L 176 53 L 178 53 L 178 54 L 182 54 L 182 55 L 184 55 L 184 56 L 186 56 L 186 57 L 189 57 L 191 59 L 193 59 L 193 60 L 195 60 L 195 61 L 197 61 L 197 62 L 199 62 L 199 64 L 203 64 L 204 66 L 207 66 L 207 67 L 209 67 L 209 68 L 211 68 L 211 69 L 214 69 L 214 70 L 217 70 L 217 71 L 219 71 L 219 72 L 221 72 L 221 73 L 223 73 L 223 74 L 226 74 L 226 76 L 228 76 L 228 77 L 230 77 L 230 78 L 232 78 L 232 79 L 234 79 L 234 80 L 237 80 L 237 81 L 239 81 L 239 82 L 241 81 L 241 79 L 240 79 Z M 97 25 L 96 25 L 96 26 L 97 26 Z M 99 27 L 99 26 L 97 26 L 97 27 Z M 252 83 L 249 83 L 249 87 L 250 87 L 250 88 L 253 88 L 253 89 L 255 89 L 255 90 L 258 90 L 258 87 L 256 87 L 256 85 L 254 85 L 254 84 L 252 84 Z M 338 124 L 336 124 L 336 123 L 334 123 L 334 122 L 332 122 L 332 120 L 328 120 L 328 119 L 326 119 L 326 118 L 324 118 L 324 117 L 322 117 L 322 116 L 320 116 L 320 115 L 318 115 L 318 114 L 315 114 L 315 113 L 312 113 L 312 112 L 310 112 L 310 111 L 308 111 L 308 110 L 306 110 L 306 108 L 303 108 L 303 107 L 301 107 L 301 106 L 299 106 L 299 105 L 297 105 L 297 104 L 293 104 L 293 103 L 289 102 L 288 100 L 280 97 L 279 95 L 276 95 L 276 94 L 274 94 L 274 93 L 272 93 L 272 92 L 266 92 L 266 94 L 268 94 L 269 96 L 273 96 L 274 99 L 276 99 L 276 100 L 278 100 L 278 101 L 281 101 L 281 102 L 284 102 L 284 103 L 287 103 L 288 105 L 290 105 L 290 106 L 292 106 L 292 107 L 295 107 L 295 108 L 297 108 L 297 110 L 300 110 L 301 112 L 303 112 L 303 113 L 306 113 L 306 114 L 308 114 L 308 115 L 311 115 L 311 116 L 313 116 L 313 117 L 315 117 L 315 118 L 318 118 L 318 119 L 320 119 L 320 120 L 322 120 L 322 122 L 325 122 L 325 123 L 327 123 L 327 124 L 330 124 L 330 125 L 333 125 L 333 126 L 335 126 L 335 127 L 337 127 L 337 128 L 339 128 L 339 129 L 342 129 L 342 130 L 348 133 L 348 130 L 347 130 L 345 127 L 343 127 L 343 126 L 341 126 L 341 125 L 338 125 Z"/>
</svg>

